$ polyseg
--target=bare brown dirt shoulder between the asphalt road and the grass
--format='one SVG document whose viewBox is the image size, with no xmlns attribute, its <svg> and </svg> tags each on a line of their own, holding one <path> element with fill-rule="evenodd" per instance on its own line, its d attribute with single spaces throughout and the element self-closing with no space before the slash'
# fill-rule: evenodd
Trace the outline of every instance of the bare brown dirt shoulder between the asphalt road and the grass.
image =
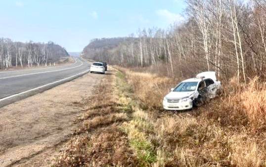
<svg viewBox="0 0 266 167">
<path fill-rule="evenodd" d="M 86 74 L 0 108 L 0 167 L 24 163 L 40 153 L 50 157 L 47 151 L 53 152 L 77 128 L 75 119 L 89 107 L 92 89 L 103 77 Z"/>
</svg>

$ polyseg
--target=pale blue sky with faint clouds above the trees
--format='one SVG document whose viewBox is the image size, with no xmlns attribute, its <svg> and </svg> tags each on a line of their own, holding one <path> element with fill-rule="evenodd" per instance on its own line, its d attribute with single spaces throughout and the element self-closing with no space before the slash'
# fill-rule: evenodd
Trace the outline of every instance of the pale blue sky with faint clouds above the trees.
<svg viewBox="0 0 266 167">
<path fill-rule="evenodd" d="M 0 0 L 0 37 L 82 51 L 91 39 L 183 20 L 183 0 Z"/>
</svg>

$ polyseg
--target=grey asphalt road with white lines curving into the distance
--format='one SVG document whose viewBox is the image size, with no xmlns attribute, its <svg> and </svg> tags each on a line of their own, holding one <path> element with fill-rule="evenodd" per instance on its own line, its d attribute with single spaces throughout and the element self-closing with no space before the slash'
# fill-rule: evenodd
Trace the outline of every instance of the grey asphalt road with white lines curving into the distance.
<svg viewBox="0 0 266 167">
<path fill-rule="evenodd" d="M 71 81 L 88 73 L 89 67 L 77 59 L 71 65 L 0 72 L 0 107 Z"/>
</svg>

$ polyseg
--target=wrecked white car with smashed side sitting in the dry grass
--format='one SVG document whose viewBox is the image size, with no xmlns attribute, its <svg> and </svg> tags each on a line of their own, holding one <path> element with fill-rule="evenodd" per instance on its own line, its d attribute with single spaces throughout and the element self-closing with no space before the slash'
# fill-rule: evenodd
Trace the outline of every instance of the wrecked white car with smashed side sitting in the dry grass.
<svg viewBox="0 0 266 167">
<path fill-rule="evenodd" d="M 193 106 L 201 106 L 208 99 L 221 93 L 221 82 L 216 79 L 215 72 L 203 72 L 196 78 L 187 79 L 171 88 L 163 99 L 166 110 L 187 110 Z"/>
</svg>

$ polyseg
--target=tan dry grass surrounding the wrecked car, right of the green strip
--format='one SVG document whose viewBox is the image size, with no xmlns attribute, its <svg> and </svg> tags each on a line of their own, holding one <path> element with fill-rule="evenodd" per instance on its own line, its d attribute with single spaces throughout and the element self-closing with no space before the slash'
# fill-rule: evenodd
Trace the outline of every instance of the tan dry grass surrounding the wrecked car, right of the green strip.
<svg viewBox="0 0 266 167">
<path fill-rule="evenodd" d="M 176 115 L 160 112 L 174 79 L 120 68 L 144 106 L 133 108 L 127 134 L 150 143 L 154 167 L 265 167 L 266 89 L 258 78 L 224 83 L 209 104 Z M 142 107 L 141 110 L 139 107 Z M 154 110 L 160 109 L 160 110 Z"/>
</svg>

